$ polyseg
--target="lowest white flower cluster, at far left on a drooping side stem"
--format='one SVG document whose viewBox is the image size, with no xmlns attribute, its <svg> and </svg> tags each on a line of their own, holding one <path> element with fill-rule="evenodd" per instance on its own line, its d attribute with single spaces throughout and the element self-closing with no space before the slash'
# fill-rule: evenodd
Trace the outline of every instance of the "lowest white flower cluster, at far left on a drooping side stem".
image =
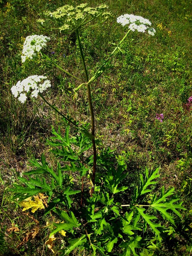
<svg viewBox="0 0 192 256">
<path fill-rule="evenodd" d="M 48 87 L 51 87 L 50 80 L 45 80 L 42 84 L 38 84 L 42 79 L 46 79 L 46 76 L 29 76 L 28 78 L 18 81 L 16 85 L 12 86 L 11 91 L 15 98 L 18 98 L 20 102 L 24 103 L 27 99 L 26 93 L 30 88 L 33 90 L 31 97 L 37 97 L 38 92 L 43 92 Z"/>
</svg>

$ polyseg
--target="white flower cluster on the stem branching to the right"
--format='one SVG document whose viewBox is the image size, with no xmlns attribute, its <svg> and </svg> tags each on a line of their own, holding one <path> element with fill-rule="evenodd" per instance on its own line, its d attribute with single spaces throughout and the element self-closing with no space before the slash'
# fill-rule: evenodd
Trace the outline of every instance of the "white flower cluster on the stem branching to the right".
<svg viewBox="0 0 192 256">
<path fill-rule="evenodd" d="M 133 14 L 124 14 L 117 18 L 117 22 L 125 26 L 126 24 L 130 24 L 129 28 L 132 31 L 137 30 L 138 32 L 145 32 L 148 30 L 148 33 L 152 36 L 155 34 L 155 29 L 150 28 L 151 22 L 148 19 L 145 19 L 141 16 L 136 16 Z"/>
</svg>

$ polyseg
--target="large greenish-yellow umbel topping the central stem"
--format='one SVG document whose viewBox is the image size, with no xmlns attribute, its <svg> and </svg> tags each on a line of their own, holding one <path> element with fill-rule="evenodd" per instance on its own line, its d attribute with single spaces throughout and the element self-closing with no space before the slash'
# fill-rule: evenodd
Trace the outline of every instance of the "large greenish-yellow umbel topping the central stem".
<svg viewBox="0 0 192 256">
<path fill-rule="evenodd" d="M 106 4 L 101 4 L 95 8 L 87 7 L 87 4 L 80 4 L 76 7 L 64 5 L 54 12 L 45 12 L 45 16 L 52 18 L 58 22 L 60 31 L 74 30 L 85 26 L 98 16 L 107 19 L 111 16 L 110 12 L 106 12 Z M 37 20 L 42 24 L 42 20 Z"/>
</svg>

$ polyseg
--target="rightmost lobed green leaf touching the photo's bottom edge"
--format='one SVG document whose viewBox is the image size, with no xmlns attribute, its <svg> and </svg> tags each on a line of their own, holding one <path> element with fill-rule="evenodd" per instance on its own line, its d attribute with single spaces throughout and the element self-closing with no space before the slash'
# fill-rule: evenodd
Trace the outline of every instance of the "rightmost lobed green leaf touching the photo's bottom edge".
<svg viewBox="0 0 192 256">
<path fill-rule="evenodd" d="M 136 236 L 133 240 L 130 240 L 128 242 L 122 242 L 119 247 L 125 248 L 125 251 L 120 254 L 120 256 L 131 256 L 131 252 L 134 256 L 138 256 L 135 252 L 135 248 L 140 248 L 139 241 L 142 238 L 140 236 Z"/>
</svg>

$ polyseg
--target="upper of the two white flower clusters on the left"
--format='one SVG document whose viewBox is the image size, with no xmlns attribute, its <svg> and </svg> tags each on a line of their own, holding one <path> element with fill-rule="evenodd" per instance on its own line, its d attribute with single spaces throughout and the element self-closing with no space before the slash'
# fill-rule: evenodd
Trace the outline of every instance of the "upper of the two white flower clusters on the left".
<svg viewBox="0 0 192 256">
<path fill-rule="evenodd" d="M 25 62 L 26 57 L 32 59 L 35 52 L 39 52 L 44 46 L 46 46 L 47 40 L 50 40 L 48 36 L 27 36 L 23 45 L 22 62 Z"/>
</svg>

